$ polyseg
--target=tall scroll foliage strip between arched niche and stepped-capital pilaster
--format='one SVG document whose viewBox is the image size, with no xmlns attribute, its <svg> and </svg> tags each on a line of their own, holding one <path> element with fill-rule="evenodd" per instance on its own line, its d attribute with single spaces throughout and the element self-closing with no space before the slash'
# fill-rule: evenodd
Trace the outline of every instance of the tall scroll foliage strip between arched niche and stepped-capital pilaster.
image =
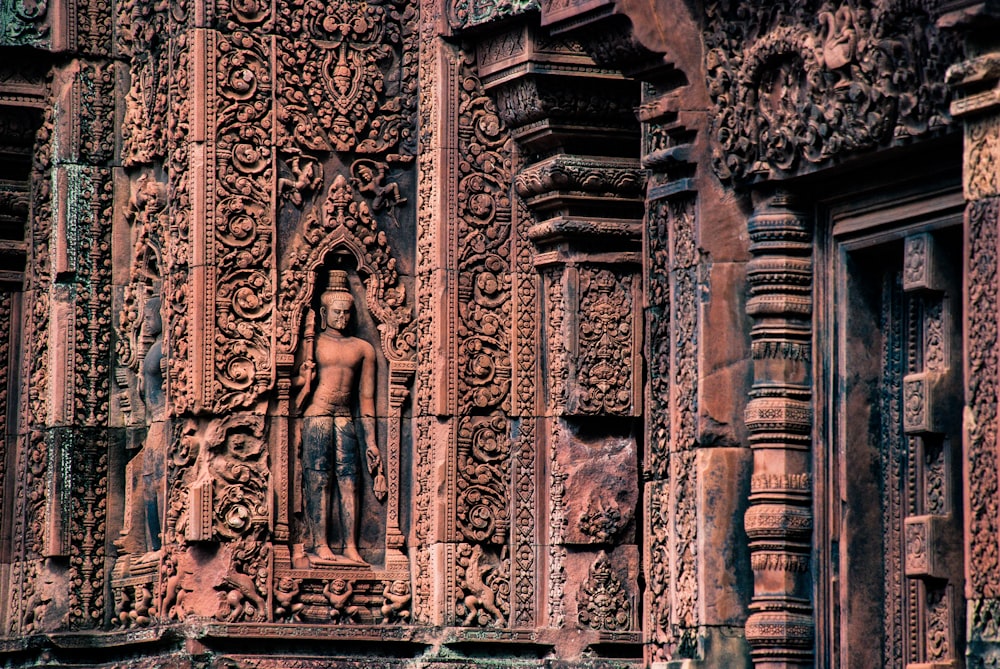
<svg viewBox="0 0 1000 669">
<path fill-rule="evenodd" d="M 506 626 L 511 585 L 506 544 L 511 513 L 507 416 L 512 376 L 512 145 L 472 65 L 471 58 L 463 61 L 459 73 L 456 221 L 450 239 L 457 274 L 457 300 L 452 307 L 457 334 L 455 401 L 461 416 L 454 445 L 458 477 L 452 494 L 458 538 L 470 542 L 476 553 L 484 545 L 505 546 L 501 556 L 505 585 L 493 589 L 495 605 L 503 615 L 489 612 L 482 601 L 477 609 L 467 596 L 468 613 L 458 622 L 492 621 L 489 624 Z M 470 564 L 477 564 L 477 559 Z M 465 569 L 462 588 L 469 593 L 468 566 Z"/>
</svg>

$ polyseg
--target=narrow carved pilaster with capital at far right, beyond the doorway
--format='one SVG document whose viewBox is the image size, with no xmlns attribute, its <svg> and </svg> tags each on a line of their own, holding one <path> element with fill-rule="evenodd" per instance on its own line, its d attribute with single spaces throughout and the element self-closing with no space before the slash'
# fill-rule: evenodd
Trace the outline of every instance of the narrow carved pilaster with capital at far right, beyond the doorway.
<svg viewBox="0 0 1000 669">
<path fill-rule="evenodd" d="M 965 12 L 950 19 L 962 25 Z M 996 17 L 988 6 L 975 4 L 967 11 L 971 22 L 969 42 L 980 55 L 948 71 L 955 100 L 952 114 L 965 128 L 962 164 L 965 210 L 965 596 L 968 619 L 967 654 L 973 667 L 1000 662 L 1000 460 L 997 457 L 997 389 L 1000 384 L 1000 49 L 995 39 Z M 975 34 L 977 27 L 984 32 Z M 989 48 L 985 48 L 988 46 Z M 928 518 L 930 520 L 930 518 Z M 910 530 L 910 528 L 907 528 Z M 919 526 L 913 528 L 919 531 Z M 932 527 L 926 528 L 928 531 Z M 916 566 L 916 565 L 915 565 Z M 927 568 L 921 567 L 923 571 Z"/>
</svg>

